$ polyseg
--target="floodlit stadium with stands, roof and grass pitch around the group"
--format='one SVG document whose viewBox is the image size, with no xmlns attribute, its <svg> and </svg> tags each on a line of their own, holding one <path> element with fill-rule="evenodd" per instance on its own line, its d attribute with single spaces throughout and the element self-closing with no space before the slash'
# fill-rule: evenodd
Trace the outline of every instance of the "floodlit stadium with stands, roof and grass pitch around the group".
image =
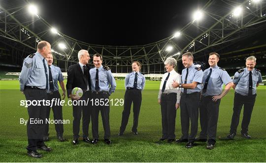
<svg viewBox="0 0 266 163">
<path fill-rule="evenodd" d="M 98 45 L 72 38 L 62 33 L 44 15 L 39 15 L 38 7 L 29 0 L 0 1 L 0 161 L 1 162 L 266 162 L 266 1 L 265 0 L 209 0 L 195 11 L 186 24 L 164 39 L 143 45 Z M 45 14 L 45 12 L 42 12 Z M 188 14 L 189 15 L 189 14 Z M 73 29 L 78 30 L 78 28 Z M 148 30 L 148 29 L 147 29 Z M 19 89 L 19 75 L 23 60 L 36 52 L 38 42 L 51 43 L 54 65 L 63 72 L 65 84 L 69 66 L 78 62 L 78 52 L 87 50 L 102 54 L 102 65 L 108 66 L 116 81 L 116 91 L 110 99 L 124 99 L 125 77 L 132 72 L 133 61 L 142 64 L 141 73 L 146 79 L 142 92 L 138 135 L 130 130 L 133 112 L 124 136 L 118 136 L 123 105 L 110 107 L 110 128 L 112 144 L 100 141 L 97 145 L 81 142 L 71 144 L 72 107 L 63 107 L 64 136 L 68 141 L 56 139 L 54 125 L 50 125 L 50 141 L 53 148 L 39 160 L 27 157 L 26 124 L 20 119 L 28 119 L 28 111 L 20 106 L 25 96 Z M 203 142 L 192 149 L 185 144 L 155 143 L 162 134 L 161 110 L 158 92 L 163 74 L 164 62 L 172 57 L 177 61 L 176 72 L 181 74 L 182 54 L 192 52 L 194 64 L 204 70 L 209 67 L 208 55 L 220 54 L 218 65 L 233 78 L 234 73 L 245 68 L 245 60 L 254 55 L 256 68 L 261 71 L 263 82 L 257 88 L 257 98 L 253 109 L 249 134 L 252 139 L 240 136 L 238 126 L 234 140 L 227 140 L 233 114 L 234 90 L 231 89 L 220 104 L 217 128 L 217 146 L 206 150 Z M 92 59 L 91 59 L 92 60 Z M 89 64 L 94 67 L 93 62 Z M 60 90 L 62 92 L 62 90 Z M 67 101 L 67 99 L 65 99 Z M 68 99 L 69 100 L 69 99 Z M 240 121 L 243 113 L 241 113 Z M 53 113 L 50 114 L 50 118 Z M 103 136 L 101 118 L 99 135 Z M 89 137 L 91 135 L 91 123 Z M 200 125 L 198 134 L 200 132 Z M 176 114 L 176 138 L 181 136 L 180 109 Z"/>
</svg>

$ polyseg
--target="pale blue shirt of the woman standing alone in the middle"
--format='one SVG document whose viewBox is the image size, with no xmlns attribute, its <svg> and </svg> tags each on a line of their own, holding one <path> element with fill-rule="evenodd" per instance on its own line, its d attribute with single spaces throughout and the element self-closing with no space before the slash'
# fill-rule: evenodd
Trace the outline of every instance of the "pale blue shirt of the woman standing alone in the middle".
<svg viewBox="0 0 266 163">
<path fill-rule="evenodd" d="M 125 87 L 134 87 L 135 74 L 137 73 L 137 89 L 143 90 L 145 86 L 145 77 L 140 72 L 131 72 L 125 78 Z"/>
</svg>

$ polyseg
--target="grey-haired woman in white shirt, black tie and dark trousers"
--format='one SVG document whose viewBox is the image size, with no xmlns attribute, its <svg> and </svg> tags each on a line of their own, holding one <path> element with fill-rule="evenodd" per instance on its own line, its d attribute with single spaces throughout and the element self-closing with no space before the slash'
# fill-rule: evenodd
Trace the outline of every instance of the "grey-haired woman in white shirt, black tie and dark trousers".
<svg viewBox="0 0 266 163">
<path fill-rule="evenodd" d="M 163 75 L 158 95 L 158 103 L 161 105 L 163 128 L 163 136 L 159 141 L 167 139 L 168 143 L 175 140 L 176 109 L 179 108 L 181 97 L 181 89 L 172 87 L 174 81 L 181 82 L 180 74 L 174 70 L 176 63 L 174 58 L 166 59 L 165 68 L 167 73 Z"/>
</svg>

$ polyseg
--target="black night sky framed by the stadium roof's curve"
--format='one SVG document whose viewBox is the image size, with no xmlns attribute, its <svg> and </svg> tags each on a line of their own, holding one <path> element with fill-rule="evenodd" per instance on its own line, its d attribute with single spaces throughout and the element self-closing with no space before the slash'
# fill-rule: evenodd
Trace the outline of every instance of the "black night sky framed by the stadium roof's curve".
<svg viewBox="0 0 266 163">
<path fill-rule="evenodd" d="M 29 0 L 49 24 L 99 45 L 144 45 L 184 27 L 208 0 Z"/>
</svg>

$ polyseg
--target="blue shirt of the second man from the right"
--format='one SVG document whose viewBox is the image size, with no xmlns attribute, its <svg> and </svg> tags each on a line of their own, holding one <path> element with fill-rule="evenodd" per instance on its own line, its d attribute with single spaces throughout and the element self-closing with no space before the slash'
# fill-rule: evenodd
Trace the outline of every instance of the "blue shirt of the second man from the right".
<svg viewBox="0 0 266 163">
<path fill-rule="evenodd" d="M 227 73 L 227 71 L 216 65 L 215 67 L 210 67 L 204 70 L 202 78 L 202 89 L 209 75 L 210 69 L 212 69 L 211 76 L 208 81 L 206 92 L 205 93 L 202 92 L 202 95 L 204 96 L 220 95 L 223 90 L 223 84 L 226 85 L 229 82 L 232 82 L 232 79 Z"/>
</svg>

